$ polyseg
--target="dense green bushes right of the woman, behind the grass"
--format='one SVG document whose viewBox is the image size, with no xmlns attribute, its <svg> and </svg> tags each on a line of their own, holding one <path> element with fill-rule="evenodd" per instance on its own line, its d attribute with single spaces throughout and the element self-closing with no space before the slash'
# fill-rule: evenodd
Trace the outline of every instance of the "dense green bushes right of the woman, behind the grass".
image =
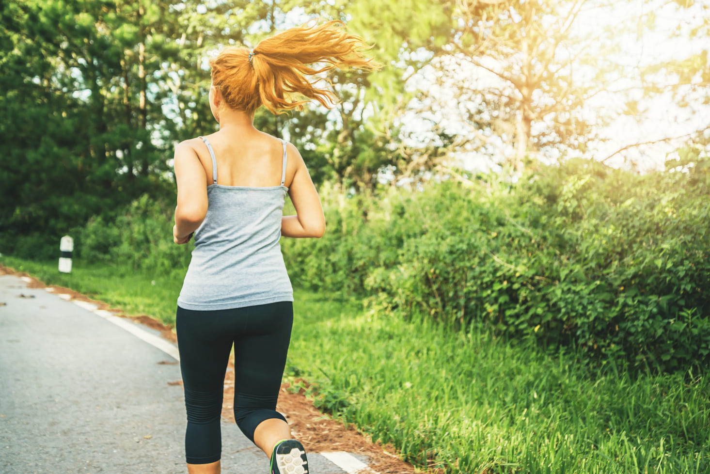
<svg viewBox="0 0 710 474">
<path fill-rule="evenodd" d="M 692 170 L 570 161 L 513 186 L 325 192 L 326 236 L 283 249 L 312 290 L 676 370 L 710 360 L 710 188 L 704 161 Z"/>
</svg>

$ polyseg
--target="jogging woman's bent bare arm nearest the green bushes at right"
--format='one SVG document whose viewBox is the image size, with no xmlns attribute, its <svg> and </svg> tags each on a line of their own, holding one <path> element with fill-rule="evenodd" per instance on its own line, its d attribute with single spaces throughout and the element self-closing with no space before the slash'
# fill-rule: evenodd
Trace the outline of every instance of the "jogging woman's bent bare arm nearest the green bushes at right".
<svg viewBox="0 0 710 474">
<path fill-rule="evenodd" d="M 301 154 L 290 143 L 288 159 L 296 163 L 296 171 L 288 188 L 288 196 L 296 209 L 296 215 L 281 218 L 281 236 L 322 237 L 325 232 L 323 206 Z"/>
</svg>

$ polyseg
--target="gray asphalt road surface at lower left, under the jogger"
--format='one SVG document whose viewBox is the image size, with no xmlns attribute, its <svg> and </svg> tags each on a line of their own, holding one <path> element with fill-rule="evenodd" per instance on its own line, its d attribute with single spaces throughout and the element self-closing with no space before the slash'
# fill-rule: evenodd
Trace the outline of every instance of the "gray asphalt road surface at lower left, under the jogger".
<svg viewBox="0 0 710 474">
<path fill-rule="evenodd" d="M 0 473 L 186 473 L 180 367 L 97 314 L 0 276 Z M 222 423 L 222 472 L 269 472 Z M 309 455 L 312 473 L 346 472 Z"/>
</svg>

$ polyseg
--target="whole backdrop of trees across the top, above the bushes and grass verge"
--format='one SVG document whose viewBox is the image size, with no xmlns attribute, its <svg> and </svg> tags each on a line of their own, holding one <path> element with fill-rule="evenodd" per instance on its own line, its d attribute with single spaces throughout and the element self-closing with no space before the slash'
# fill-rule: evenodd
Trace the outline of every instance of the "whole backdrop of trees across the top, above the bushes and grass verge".
<svg viewBox="0 0 710 474">
<path fill-rule="evenodd" d="M 333 110 L 259 111 L 255 122 L 295 143 L 317 183 L 343 192 L 452 176 L 462 153 L 518 172 L 547 150 L 583 153 L 604 116 L 643 115 L 633 94 L 623 111 L 590 115 L 591 101 L 628 75 L 648 97 L 671 90 L 679 106 L 704 110 L 706 45 L 629 67 L 616 59 L 623 44 L 615 38 L 656 31 L 654 12 L 672 7 L 692 20 L 679 21 L 669 40 L 703 43 L 708 6 L 641 3 L 633 21 L 589 34 L 577 23 L 621 7 L 603 0 L 5 1 L 0 231 L 55 241 L 142 194 L 173 199 L 174 144 L 217 128 L 207 58 L 313 18 L 347 23 L 383 69 L 334 73 L 341 102 Z M 679 146 L 706 153 L 708 126 L 699 123 Z"/>
</svg>

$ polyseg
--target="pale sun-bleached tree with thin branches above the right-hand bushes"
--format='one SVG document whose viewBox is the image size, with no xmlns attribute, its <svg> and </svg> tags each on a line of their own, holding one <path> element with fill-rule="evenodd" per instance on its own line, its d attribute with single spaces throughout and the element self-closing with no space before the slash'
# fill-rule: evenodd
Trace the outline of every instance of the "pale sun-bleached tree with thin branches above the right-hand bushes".
<svg viewBox="0 0 710 474">
<path fill-rule="evenodd" d="M 459 147 L 497 156 L 520 171 L 526 157 L 551 148 L 580 148 L 591 138 L 581 111 L 603 91 L 618 48 L 580 35 L 574 25 L 590 0 L 447 1 L 454 12 L 435 80 L 454 91 L 442 107 L 424 94 L 424 109 L 457 114 L 468 127 Z M 445 112 L 444 112 L 445 113 Z M 449 131 L 449 133 L 451 133 Z"/>
</svg>

